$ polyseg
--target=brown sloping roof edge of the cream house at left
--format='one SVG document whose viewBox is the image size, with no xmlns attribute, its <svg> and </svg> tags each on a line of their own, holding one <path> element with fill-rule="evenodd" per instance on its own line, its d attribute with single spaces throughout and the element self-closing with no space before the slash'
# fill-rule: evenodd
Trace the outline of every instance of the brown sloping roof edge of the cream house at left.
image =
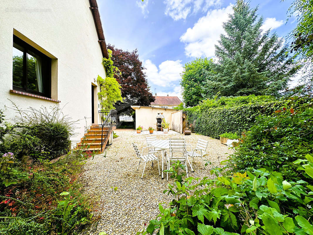
<svg viewBox="0 0 313 235">
<path fill-rule="evenodd" d="M 95 26 L 98 34 L 98 42 L 100 43 L 100 48 L 102 51 L 102 55 L 105 58 L 109 58 L 108 55 L 108 49 L 106 48 L 106 43 L 105 43 L 105 37 L 103 34 L 103 29 L 102 29 L 102 24 L 101 24 L 101 19 L 100 19 L 100 13 L 98 11 L 98 4 L 96 0 L 89 0 L 90 3 L 90 10 L 92 12 L 92 15 L 94 17 L 95 21 Z"/>
</svg>

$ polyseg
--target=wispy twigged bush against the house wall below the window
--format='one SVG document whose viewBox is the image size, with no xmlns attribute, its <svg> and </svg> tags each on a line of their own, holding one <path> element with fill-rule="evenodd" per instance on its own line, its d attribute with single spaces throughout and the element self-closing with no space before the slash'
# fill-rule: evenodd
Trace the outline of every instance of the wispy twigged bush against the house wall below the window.
<svg viewBox="0 0 313 235">
<path fill-rule="evenodd" d="M 58 105 L 49 109 L 29 107 L 26 111 L 15 106 L 15 110 L 18 116 L 0 150 L 11 151 L 20 159 L 24 155 L 53 159 L 68 152 L 76 121 L 63 115 Z"/>
</svg>

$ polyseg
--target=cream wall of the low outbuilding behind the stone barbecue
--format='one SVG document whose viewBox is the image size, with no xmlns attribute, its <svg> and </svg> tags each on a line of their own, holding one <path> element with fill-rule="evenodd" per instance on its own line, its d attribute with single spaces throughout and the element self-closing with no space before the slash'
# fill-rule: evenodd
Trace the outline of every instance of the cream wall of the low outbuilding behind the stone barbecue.
<svg viewBox="0 0 313 235">
<path fill-rule="evenodd" d="M 156 115 L 159 112 L 163 113 L 165 121 L 172 124 L 172 113 L 177 112 L 175 109 L 168 108 L 154 108 L 154 107 L 139 107 L 132 106 L 136 111 L 136 128 L 140 125 L 144 130 L 147 130 L 149 127 L 156 129 Z M 172 129 L 170 125 L 169 129 Z"/>
</svg>

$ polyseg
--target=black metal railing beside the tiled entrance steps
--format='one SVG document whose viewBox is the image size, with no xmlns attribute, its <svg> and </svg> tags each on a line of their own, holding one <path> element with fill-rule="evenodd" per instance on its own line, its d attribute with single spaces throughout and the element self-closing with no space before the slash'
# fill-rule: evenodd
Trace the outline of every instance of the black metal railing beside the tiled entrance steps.
<svg viewBox="0 0 313 235">
<path fill-rule="evenodd" d="M 99 111 L 100 112 L 100 111 Z M 102 116 L 103 113 L 103 116 Z M 104 117 L 104 118 L 102 118 Z M 101 152 L 103 149 L 103 145 L 108 142 L 110 138 L 110 133 L 112 131 L 112 128 L 116 126 L 116 110 L 111 109 L 111 111 L 107 112 L 101 111 L 101 120 L 103 120 L 102 130 L 101 130 Z"/>
</svg>

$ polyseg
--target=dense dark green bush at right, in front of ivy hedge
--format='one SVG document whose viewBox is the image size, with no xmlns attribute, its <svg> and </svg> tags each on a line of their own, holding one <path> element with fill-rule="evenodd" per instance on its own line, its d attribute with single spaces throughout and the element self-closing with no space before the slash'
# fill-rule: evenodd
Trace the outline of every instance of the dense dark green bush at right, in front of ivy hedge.
<svg viewBox="0 0 313 235">
<path fill-rule="evenodd" d="M 243 135 L 227 167 L 234 171 L 266 168 L 299 180 L 301 173 L 293 162 L 313 153 L 313 109 L 303 104 L 295 110 L 284 107 L 274 116 L 257 118 L 257 122 Z"/>
</svg>

